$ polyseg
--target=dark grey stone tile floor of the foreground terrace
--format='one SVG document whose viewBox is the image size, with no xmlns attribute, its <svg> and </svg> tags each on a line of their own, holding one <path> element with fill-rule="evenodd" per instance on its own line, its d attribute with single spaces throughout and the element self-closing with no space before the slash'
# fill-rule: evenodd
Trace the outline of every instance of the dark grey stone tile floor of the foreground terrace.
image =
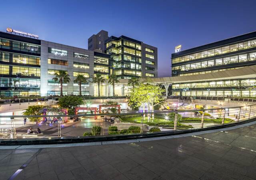
<svg viewBox="0 0 256 180">
<path fill-rule="evenodd" d="M 14 179 L 256 179 L 256 124 L 131 144 L 0 150 L 0 179 L 26 163 Z"/>
</svg>

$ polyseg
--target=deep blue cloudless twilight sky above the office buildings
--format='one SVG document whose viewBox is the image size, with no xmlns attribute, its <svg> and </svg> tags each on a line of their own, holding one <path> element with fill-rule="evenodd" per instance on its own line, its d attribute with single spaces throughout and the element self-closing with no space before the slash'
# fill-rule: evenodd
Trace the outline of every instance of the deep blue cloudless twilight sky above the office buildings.
<svg viewBox="0 0 256 180">
<path fill-rule="evenodd" d="M 11 0 L 1 2 L 7 27 L 42 40 L 88 48 L 100 30 L 158 48 L 158 76 L 170 76 L 174 46 L 182 50 L 256 30 L 256 0 Z"/>
</svg>

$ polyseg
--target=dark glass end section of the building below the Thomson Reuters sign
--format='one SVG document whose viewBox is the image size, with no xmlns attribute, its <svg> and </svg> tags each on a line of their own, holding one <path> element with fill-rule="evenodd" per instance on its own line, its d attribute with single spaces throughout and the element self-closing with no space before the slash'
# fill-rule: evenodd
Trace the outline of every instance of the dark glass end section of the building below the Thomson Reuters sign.
<svg viewBox="0 0 256 180">
<path fill-rule="evenodd" d="M 0 32 L 0 95 L 40 95 L 41 41 Z"/>
</svg>

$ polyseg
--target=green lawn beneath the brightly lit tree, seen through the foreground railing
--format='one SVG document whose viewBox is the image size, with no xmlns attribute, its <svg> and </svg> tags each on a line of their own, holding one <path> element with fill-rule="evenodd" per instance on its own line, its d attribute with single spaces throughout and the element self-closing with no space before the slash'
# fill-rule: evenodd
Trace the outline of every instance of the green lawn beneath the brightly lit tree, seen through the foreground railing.
<svg viewBox="0 0 256 180">
<path fill-rule="evenodd" d="M 142 118 L 140 116 L 121 116 L 118 117 L 121 122 L 132 122 L 132 123 L 141 123 Z M 162 116 L 155 116 L 154 120 L 150 118 L 148 120 L 148 117 L 144 117 L 143 119 L 144 124 L 148 124 L 149 126 L 162 126 L 164 128 L 173 128 L 174 127 L 174 122 L 165 120 Z M 188 129 L 192 128 L 190 125 L 184 125 L 181 124 L 180 122 L 177 123 L 177 129 Z"/>
</svg>

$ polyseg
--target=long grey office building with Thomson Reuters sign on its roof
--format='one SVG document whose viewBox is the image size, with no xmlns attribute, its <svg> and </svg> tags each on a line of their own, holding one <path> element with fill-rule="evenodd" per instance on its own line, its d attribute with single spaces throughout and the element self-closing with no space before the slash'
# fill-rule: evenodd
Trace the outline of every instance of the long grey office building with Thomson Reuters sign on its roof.
<svg viewBox="0 0 256 180">
<path fill-rule="evenodd" d="M 82 84 L 82 95 L 93 96 L 97 93 L 91 81 L 94 72 L 108 77 L 109 70 L 102 68 L 110 69 L 108 54 L 39 40 L 34 38 L 35 35 L 14 33 L 10 28 L 7 30 L 10 31 L 0 32 L 1 96 L 60 95 L 60 84 L 52 80 L 59 70 L 70 75 L 70 82 L 63 84 L 64 95 L 79 94 L 74 79 L 83 74 L 90 78 L 90 82 Z"/>
</svg>

